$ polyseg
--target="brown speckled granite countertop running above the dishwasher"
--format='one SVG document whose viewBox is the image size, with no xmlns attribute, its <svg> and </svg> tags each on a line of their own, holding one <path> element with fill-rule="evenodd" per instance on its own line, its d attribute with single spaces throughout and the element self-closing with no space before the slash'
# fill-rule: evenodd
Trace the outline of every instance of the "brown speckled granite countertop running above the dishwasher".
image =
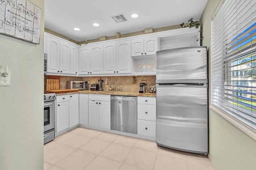
<svg viewBox="0 0 256 170">
<path fill-rule="evenodd" d="M 105 94 L 115 96 L 140 96 L 140 97 L 156 97 L 156 93 L 139 93 L 139 92 L 109 92 L 109 91 L 91 91 L 80 90 L 78 92 L 56 93 L 56 96 L 65 94 Z"/>
</svg>

